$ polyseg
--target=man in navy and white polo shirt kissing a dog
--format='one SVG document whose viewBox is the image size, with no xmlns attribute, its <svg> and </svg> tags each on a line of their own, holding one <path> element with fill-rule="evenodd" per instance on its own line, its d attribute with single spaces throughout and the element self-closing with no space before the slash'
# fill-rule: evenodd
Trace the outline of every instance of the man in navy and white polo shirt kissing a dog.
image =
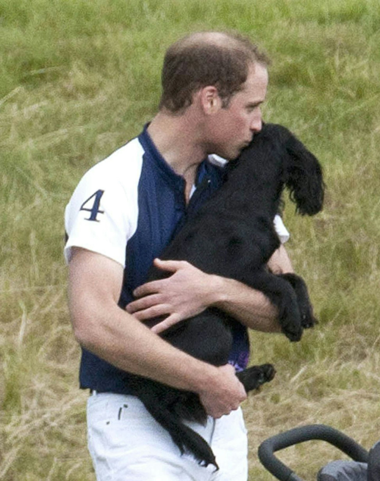
<svg viewBox="0 0 380 481">
<path fill-rule="evenodd" d="M 234 35 L 202 32 L 179 40 L 165 57 L 157 115 L 87 172 L 66 208 L 69 307 L 82 347 L 80 387 L 92 392 L 87 419 L 98 480 L 247 479 L 239 408 L 246 393 L 234 368 L 199 361 L 157 332 L 217 306 L 239 321 L 230 362 L 244 368 L 246 327 L 280 331 L 275 308 L 235 280 L 157 256 L 185 216 L 221 185 L 222 169 L 208 156 L 233 159 L 260 131 L 267 63 Z M 277 255 L 287 258 L 283 249 Z M 154 259 L 173 274 L 144 284 Z M 167 318 L 155 329 L 141 322 L 161 315 Z M 218 472 L 180 455 L 130 395 L 129 372 L 199 395 L 210 417 L 206 426 L 191 427 L 210 443 Z"/>
</svg>

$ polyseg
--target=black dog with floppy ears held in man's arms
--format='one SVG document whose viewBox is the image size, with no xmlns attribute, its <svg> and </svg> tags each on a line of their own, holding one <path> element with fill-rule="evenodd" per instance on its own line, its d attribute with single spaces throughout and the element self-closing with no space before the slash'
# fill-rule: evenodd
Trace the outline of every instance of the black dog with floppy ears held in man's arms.
<svg viewBox="0 0 380 481">
<path fill-rule="evenodd" d="M 279 247 L 273 219 L 285 186 L 301 215 L 321 210 L 324 183 L 317 159 L 285 127 L 266 124 L 228 164 L 222 188 L 187 221 L 160 258 L 187 260 L 204 272 L 262 291 L 277 306 L 284 334 L 290 341 L 299 341 L 302 329 L 315 322 L 306 285 L 295 274 L 274 275 L 266 267 Z M 165 275 L 152 268 L 149 280 Z M 232 345 L 230 320 L 210 308 L 166 330 L 162 337 L 199 359 L 222 366 L 228 362 Z M 274 373 L 271 365 L 263 365 L 237 376 L 248 392 L 271 380 Z M 190 452 L 199 463 L 217 467 L 210 446 L 183 424 L 184 419 L 206 421 L 196 394 L 137 376 L 131 377 L 131 387 L 182 453 Z"/>
</svg>

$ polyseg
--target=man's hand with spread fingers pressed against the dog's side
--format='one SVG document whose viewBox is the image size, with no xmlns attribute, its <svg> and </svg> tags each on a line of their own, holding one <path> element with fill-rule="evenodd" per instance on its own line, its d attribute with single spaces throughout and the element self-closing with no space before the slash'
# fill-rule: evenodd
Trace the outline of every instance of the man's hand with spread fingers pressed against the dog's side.
<svg viewBox="0 0 380 481">
<path fill-rule="evenodd" d="M 141 321 L 168 315 L 152 331 L 162 332 L 183 319 L 196 316 L 214 302 L 216 276 L 205 274 L 186 261 L 155 259 L 154 264 L 173 274 L 135 289 L 133 295 L 140 299 L 126 306 L 127 312 Z"/>
</svg>

